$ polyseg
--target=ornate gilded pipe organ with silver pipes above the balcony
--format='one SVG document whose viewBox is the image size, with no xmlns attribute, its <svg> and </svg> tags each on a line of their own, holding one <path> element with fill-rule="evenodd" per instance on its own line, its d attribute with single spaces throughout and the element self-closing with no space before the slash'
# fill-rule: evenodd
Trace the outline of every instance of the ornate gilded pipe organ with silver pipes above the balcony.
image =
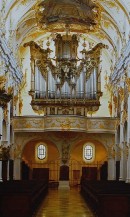
<svg viewBox="0 0 130 217">
<path fill-rule="evenodd" d="M 86 50 L 83 43 L 82 58 L 78 57 L 79 36 L 55 35 L 55 57 L 36 42 L 28 42 L 31 54 L 31 105 L 35 112 L 47 115 L 87 115 L 100 106 L 100 56 L 106 45 L 97 44 Z"/>
</svg>

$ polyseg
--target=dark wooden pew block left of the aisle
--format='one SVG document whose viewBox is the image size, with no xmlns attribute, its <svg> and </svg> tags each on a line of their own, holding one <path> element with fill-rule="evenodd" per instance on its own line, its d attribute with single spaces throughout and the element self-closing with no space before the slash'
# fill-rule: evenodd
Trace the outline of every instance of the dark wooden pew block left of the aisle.
<svg viewBox="0 0 130 217">
<path fill-rule="evenodd" d="M 0 183 L 0 217 L 31 217 L 47 190 L 47 180 Z"/>
</svg>

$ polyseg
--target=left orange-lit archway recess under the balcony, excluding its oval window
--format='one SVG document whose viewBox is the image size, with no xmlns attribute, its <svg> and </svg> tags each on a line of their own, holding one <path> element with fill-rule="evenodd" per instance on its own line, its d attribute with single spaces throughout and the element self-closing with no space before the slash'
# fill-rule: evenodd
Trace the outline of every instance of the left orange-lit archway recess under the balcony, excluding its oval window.
<svg viewBox="0 0 130 217">
<path fill-rule="evenodd" d="M 45 145 L 46 157 L 38 157 L 39 145 Z M 59 151 L 49 140 L 29 141 L 22 153 L 22 179 L 59 180 Z"/>
</svg>

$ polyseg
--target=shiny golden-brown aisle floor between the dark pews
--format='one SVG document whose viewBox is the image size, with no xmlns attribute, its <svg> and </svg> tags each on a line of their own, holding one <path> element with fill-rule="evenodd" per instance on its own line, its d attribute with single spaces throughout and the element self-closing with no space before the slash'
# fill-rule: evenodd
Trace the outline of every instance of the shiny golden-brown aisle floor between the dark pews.
<svg viewBox="0 0 130 217">
<path fill-rule="evenodd" d="M 76 188 L 49 189 L 33 217 L 94 217 Z"/>
</svg>

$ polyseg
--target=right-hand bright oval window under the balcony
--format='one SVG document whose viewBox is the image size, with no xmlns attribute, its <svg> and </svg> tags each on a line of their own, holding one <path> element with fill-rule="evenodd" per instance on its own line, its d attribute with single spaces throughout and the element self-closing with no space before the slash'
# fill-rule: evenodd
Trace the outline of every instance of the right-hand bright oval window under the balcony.
<svg viewBox="0 0 130 217">
<path fill-rule="evenodd" d="M 83 159 L 87 162 L 92 162 L 95 158 L 95 146 L 92 143 L 87 143 L 83 146 Z"/>
</svg>

